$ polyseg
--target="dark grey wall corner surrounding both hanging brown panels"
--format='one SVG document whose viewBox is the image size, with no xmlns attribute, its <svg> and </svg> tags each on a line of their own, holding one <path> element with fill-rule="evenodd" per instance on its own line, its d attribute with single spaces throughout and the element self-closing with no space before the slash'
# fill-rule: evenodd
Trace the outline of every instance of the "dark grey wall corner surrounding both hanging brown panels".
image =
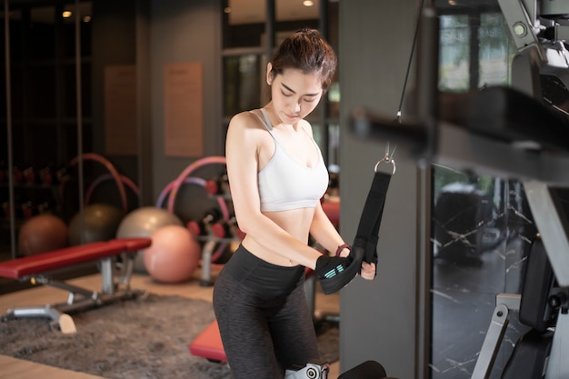
<svg viewBox="0 0 569 379">
<path fill-rule="evenodd" d="M 94 5 L 94 13 L 100 21 L 95 24 L 93 31 L 97 35 L 93 46 L 93 93 L 95 99 L 104 98 L 105 65 L 136 65 L 139 156 L 113 156 L 112 159 L 120 172 L 127 173 L 140 185 L 141 205 L 154 205 L 165 186 L 198 158 L 165 156 L 165 65 L 189 62 L 203 64 L 204 155 L 224 155 L 225 131 L 220 95 L 223 88 L 221 2 L 131 0 L 120 6 L 115 3 L 101 0 Z M 95 131 L 103 130 L 104 114 L 103 102 L 96 101 L 93 116 Z M 104 135 L 94 133 L 94 138 L 95 150 L 103 151 Z M 200 174 L 205 177 L 210 175 L 208 171 L 206 173 Z M 214 174 L 212 171 L 211 175 Z M 185 204 L 195 204 L 195 196 L 203 193 L 196 187 L 185 189 L 176 200 L 176 204 L 180 203 L 176 213 L 183 218 L 201 214 L 203 209 L 187 209 Z M 209 202 L 205 201 L 205 206 L 209 206 Z"/>
</svg>

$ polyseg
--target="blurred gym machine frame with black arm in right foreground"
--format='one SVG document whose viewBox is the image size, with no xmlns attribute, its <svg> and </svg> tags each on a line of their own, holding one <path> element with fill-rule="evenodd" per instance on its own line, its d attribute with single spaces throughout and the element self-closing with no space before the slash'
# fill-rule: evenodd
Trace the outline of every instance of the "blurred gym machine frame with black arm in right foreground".
<svg viewBox="0 0 569 379">
<path fill-rule="evenodd" d="M 524 101 L 533 106 L 531 110 L 536 110 L 535 115 L 549 117 L 546 112 L 538 112 L 545 108 L 540 75 L 554 75 L 565 87 L 569 86 L 569 53 L 564 44 L 565 40 L 569 40 L 569 24 L 563 25 L 566 19 L 559 19 L 562 15 L 569 15 L 569 5 L 563 0 L 497 1 L 518 50 L 512 63 L 512 92 L 526 96 Z M 476 117 L 485 113 L 477 114 L 476 110 L 484 108 L 473 105 L 483 92 L 467 95 L 438 92 L 438 36 L 436 12 L 433 7 L 427 6 L 422 15 L 419 35 L 417 61 L 421 65 L 417 65 L 414 117 L 395 125 L 387 117 L 356 109 L 351 120 L 352 131 L 360 137 L 397 143 L 400 151 L 403 150 L 400 156 L 407 155 L 418 165 L 433 163 L 521 180 L 556 283 L 567 293 L 569 229 L 554 191 L 555 187 L 569 187 L 569 139 L 564 138 L 564 134 L 569 133 L 567 113 L 557 108 L 558 115 L 564 114 L 564 120 L 563 116 L 557 118 L 562 120 L 562 127 L 542 123 L 539 131 L 535 131 L 538 125 L 523 127 L 521 133 L 514 130 L 512 125 L 506 125 L 500 131 L 484 128 L 480 122 L 475 125 L 476 120 L 480 121 Z M 507 90 L 502 90 L 498 95 L 511 95 Z M 509 103 L 505 101 L 504 106 L 507 105 Z M 518 111 L 521 110 L 515 110 Z M 548 121 L 552 119 L 555 120 L 555 116 L 547 118 Z M 481 126 L 483 130 L 480 130 Z M 550 129 L 544 130 L 547 127 Z M 519 296 L 497 296 L 494 316 L 473 378 L 488 377 L 509 311 L 518 307 Z M 558 313 L 545 379 L 569 377 L 569 362 L 566 360 L 566 352 L 569 351 L 569 314 L 566 306 L 560 307 Z"/>
</svg>

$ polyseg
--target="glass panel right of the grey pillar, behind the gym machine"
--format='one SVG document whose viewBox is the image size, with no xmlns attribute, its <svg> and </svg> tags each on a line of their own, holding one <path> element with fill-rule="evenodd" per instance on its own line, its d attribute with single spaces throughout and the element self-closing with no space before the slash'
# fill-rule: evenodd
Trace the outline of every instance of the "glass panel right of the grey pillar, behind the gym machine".
<svg viewBox="0 0 569 379">
<path fill-rule="evenodd" d="M 439 12 L 439 90 L 465 93 L 508 85 L 515 46 L 497 3 L 446 6 Z M 527 222 L 531 213 L 520 183 L 438 165 L 432 175 L 430 377 L 467 379 L 494 312 L 495 294 L 519 288 L 534 226 Z M 513 325 L 504 341 L 516 339 L 519 325 Z M 492 377 L 500 374 L 511 349 L 511 344 L 501 346 Z"/>
</svg>

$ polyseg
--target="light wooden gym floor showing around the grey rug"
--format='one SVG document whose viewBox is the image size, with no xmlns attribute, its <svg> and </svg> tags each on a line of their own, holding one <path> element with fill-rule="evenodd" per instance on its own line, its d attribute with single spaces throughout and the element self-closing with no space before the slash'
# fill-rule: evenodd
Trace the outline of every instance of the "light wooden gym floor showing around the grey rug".
<svg viewBox="0 0 569 379">
<path fill-rule="evenodd" d="M 215 272 L 213 274 L 215 275 Z M 213 287 L 199 285 L 199 275 L 200 271 L 196 270 L 195 280 L 184 284 L 159 284 L 148 275 L 134 274 L 131 279 L 131 286 L 136 289 L 144 289 L 153 294 L 178 294 L 189 298 L 211 301 Z M 70 283 L 99 290 L 101 278 L 99 274 L 91 274 L 73 279 Z M 24 291 L 3 294 L 0 295 L 0 314 L 4 314 L 8 308 L 14 306 L 61 303 L 65 302 L 66 298 L 67 293 L 65 291 L 47 286 L 38 286 Z M 322 312 L 323 314 L 339 313 L 339 294 L 324 295 L 317 289 L 315 302 L 316 312 Z M 188 354 L 190 354 L 189 351 Z M 27 379 L 30 377 L 41 377 L 42 379 L 103 379 L 99 376 L 35 364 L 5 355 L 0 355 L 0 367 L 2 367 L 0 379 Z M 336 379 L 338 375 L 339 363 L 336 362 L 331 365 L 328 377 Z"/>
</svg>

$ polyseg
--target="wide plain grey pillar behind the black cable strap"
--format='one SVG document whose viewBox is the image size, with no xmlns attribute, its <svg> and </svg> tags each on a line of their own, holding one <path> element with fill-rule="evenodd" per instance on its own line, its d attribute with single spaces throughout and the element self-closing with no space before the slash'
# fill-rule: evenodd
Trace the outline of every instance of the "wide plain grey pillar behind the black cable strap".
<svg viewBox="0 0 569 379">
<path fill-rule="evenodd" d="M 351 135 L 348 116 L 357 106 L 395 118 L 411 54 L 414 0 L 340 2 L 341 73 L 341 233 L 354 238 L 375 163 L 385 144 Z M 413 73 L 407 90 L 412 89 Z M 392 145 L 393 146 L 393 145 Z M 397 160 L 380 230 L 379 264 L 374 282 L 356 278 L 341 294 L 341 371 L 366 360 L 384 364 L 399 378 L 416 374 L 421 361 L 422 326 L 419 175 L 412 161 Z M 417 317 L 417 315 L 419 317 Z"/>
</svg>

